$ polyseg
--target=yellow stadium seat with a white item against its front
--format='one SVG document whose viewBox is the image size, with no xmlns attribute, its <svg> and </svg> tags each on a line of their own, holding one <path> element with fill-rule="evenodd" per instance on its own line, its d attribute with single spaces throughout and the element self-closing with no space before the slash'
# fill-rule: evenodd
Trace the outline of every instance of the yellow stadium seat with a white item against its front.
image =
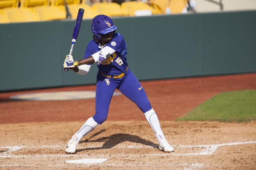
<svg viewBox="0 0 256 170">
<path fill-rule="evenodd" d="M 130 2 L 123 2 L 121 4 L 122 9 L 127 10 L 128 14 L 130 16 L 135 16 L 136 11 L 140 10 L 149 10 L 152 14 L 158 14 L 157 10 L 152 8 L 152 6 L 147 5 L 143 2 L 136 2 L 136 1 L 130 1 Z"/>
</svg>

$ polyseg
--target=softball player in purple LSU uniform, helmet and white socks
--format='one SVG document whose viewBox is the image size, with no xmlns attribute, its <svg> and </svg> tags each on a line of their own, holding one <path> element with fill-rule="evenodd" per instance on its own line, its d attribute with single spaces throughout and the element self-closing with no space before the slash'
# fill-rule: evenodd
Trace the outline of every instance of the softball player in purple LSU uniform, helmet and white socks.
<svg viewBox="0 0 256 170">
<path fill-rule="evenodd" d="M 128 67 L 127 47 L 123 36 L 115 32 L 117 27 L 110 17 L 105 15 L 94 17 L 91 29 L 93 40 L 87 45 L 84 59 L 74 61 L 73 57 L 68 55 L 63 66 L 72 69 L 79 75 L 86 75 L 91 64 L 97 64 L 99 72 L 96 84 L 96 113 L 87 119 L 68 141 L 66 153 L 75 153 L 79 140 L 107 119 L 110 100 L 115 89 L 136 103 L 143 111 L 159 141 L 159 149 L 172 152 L 174 148 L 165 139 L 157 114 L 152 109 L 146 92 Z"/>
</svg>

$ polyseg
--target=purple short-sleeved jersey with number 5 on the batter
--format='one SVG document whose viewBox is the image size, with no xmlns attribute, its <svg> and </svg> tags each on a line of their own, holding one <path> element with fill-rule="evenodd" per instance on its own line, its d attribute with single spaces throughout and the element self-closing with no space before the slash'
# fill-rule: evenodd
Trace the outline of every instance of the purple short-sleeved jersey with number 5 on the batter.
<svg viewBox="0 0 256 170">
<path fill-rule="evenodd" d="M 104 75 L 120 75 L 126 71 L 128 67 L 126 61 L 126 43 L 125 39 L 120 33 L 115 33 L 111 41 L 109 41 L 105 46 L 109 46 L 116 52 L 111 54 L 107 59 L 103 60 L 98 64 L 99 72 Z M 84 59 L 91 56 L 92 54 L 100 51 L 101 48 L 96 41 L 91 40 L 87 45 L 86 52 L 84 54 Z"/>
</svg>

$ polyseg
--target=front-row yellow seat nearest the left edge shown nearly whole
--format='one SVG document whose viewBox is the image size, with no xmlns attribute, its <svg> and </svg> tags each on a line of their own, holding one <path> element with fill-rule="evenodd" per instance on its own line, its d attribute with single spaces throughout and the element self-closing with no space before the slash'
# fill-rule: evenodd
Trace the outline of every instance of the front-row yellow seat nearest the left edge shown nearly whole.
<svg viewBox="0 0 256 170">
<path fill-rule="evenodd" d="M 6 13 L 9 22 L 36 22 L 39 21 L 38 16 L 32 13 L 28 8 L 5 8 L 3 12 Z"/>
</svg>

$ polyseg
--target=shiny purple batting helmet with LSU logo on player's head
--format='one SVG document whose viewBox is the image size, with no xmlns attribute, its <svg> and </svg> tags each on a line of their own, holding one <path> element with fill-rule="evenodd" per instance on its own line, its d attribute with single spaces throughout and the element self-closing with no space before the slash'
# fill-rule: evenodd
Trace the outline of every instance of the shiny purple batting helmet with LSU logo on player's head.
<svg viewBox="0 0 256 170">
<path fill-rule="evenodd" d="M 101 38 L 100 34 L 107 34 L 117 29 L 113 24 L 110 17 L 106 15 L 97 15 L 92 19 L 91 25 L 92 33 L 94 37 L 99 40 Z"/>
</svg>

